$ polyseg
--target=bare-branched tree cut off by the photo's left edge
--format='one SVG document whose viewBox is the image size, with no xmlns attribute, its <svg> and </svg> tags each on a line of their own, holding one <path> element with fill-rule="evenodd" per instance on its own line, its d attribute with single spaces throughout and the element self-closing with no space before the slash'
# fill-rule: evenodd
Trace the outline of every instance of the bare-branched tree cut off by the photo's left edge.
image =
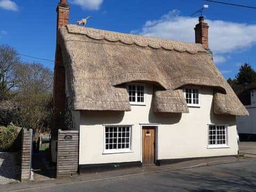
<svg viewBox="0 0 256 192">
<path fill-rule="evenodd" d="M 9 45 L 0 45 L 0 102 L 11 97 L 15 87 L 15 69 L 20 64 L 17 51 Z"/>
</svg>

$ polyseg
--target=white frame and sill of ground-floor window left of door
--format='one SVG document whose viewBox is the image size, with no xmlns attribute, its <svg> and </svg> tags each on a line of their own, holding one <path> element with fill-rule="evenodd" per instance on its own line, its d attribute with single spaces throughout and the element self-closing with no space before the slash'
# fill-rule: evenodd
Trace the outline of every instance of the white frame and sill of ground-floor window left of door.
<svg viewBox="0 0 256 192">
<path fill-rule="evenodd" d="M 106 149 L 106 127 L 130 127 L 129 149 Z M 103 125 L 103 153 L 102 154 L 116 154 L 116 153 L 132 153 L 132 125 Z"/>
</svg>

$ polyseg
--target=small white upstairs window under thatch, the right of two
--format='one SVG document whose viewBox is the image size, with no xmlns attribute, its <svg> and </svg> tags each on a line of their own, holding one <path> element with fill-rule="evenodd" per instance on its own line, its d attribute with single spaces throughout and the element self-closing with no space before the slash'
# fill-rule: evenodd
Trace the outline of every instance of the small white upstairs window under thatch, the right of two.
<svg viewBox="0 0 256 192">
<path fill-rule="evenodd" d="M 185 87 L 185 98 L 188 103 L 188 106 L 199 106 L 199 89 Z"/>
</svg>

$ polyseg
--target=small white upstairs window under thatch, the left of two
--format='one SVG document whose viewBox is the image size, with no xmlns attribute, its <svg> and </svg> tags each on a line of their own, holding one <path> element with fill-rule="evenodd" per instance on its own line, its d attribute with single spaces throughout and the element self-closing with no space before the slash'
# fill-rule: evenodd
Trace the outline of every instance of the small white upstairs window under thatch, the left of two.
<svg viewBox="0 0 256 192">
<path fill-rule="evenodd" d="M 128 85 L 127 91 L 129 94 L 129 101 L 132 104 L 145 104 L 145 86 L 144 85 Z"/>
</svg>

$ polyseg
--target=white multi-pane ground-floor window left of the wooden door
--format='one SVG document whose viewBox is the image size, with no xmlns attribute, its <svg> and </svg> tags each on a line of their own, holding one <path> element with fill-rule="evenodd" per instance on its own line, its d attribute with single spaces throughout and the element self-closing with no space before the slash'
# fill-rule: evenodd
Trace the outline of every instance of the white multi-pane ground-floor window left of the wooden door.
<svg viewBox="0 0 256 192">
<path fill-rule="evenodd" d="M 106 126 L 105 151 L 127 151 L 131 149 L 131 126 Z"/>
</svg>

